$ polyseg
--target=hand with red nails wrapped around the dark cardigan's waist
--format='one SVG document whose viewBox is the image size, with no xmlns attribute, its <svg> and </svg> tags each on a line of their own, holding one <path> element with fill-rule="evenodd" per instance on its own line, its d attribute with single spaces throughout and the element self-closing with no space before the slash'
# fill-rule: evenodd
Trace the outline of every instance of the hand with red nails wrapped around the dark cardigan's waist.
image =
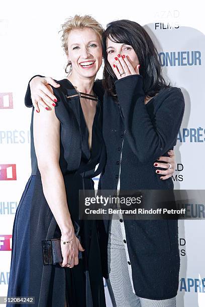
<svg viewBox="0 0 205 307">
<path fill-rule="evenodd" d="M 154 167 L 166 169 L 166 171 L 156 170 L 157 174 L 164 175 L 164 176 L 160 177 L 161 180 L 166 180 L 166 179 L 170 178 L 173 175 L 173 173 L 176 169 L 176 161 L 175 161 L 174 150 L 169 150 L 168 155 L 169 155 L 169 157 L 163 157 L 162 156 L 159 159 L 157 159 L 157 161 L 163 161 L 163 162 L 166 162 L 166 163 L 158 163 L 158 162 L 154 163 Z M 170 167 L 170 165 L 171 165 L 171 167 Z"/>
</svg>

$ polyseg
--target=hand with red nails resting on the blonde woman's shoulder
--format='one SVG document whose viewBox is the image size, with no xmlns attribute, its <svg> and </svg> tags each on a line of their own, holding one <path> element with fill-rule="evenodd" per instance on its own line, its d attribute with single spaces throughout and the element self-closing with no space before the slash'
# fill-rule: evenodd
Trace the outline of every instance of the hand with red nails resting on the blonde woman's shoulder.
<svg viewBox="0 0 205 307">
<path fill-rule="evenodd" d="M 38 104 L 42 105 L 46 110 L 49 110 L 51 105 L 55 106 L 57 102 L 56 97 L 53 95 L 53 87 L 60 87 L 51 77 L 34 77 L 30 83 L 31 99 L 34 108 L 39 113 L 40 109 Z"/>
</svg>

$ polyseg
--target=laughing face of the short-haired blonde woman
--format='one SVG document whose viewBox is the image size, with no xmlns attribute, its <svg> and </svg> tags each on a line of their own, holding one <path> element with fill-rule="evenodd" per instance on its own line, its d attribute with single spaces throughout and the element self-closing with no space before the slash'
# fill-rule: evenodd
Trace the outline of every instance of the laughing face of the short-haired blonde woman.
<svg viewBox="0 0 205 307">
<path fill-rule="evenodd" d="M 74 29 L 68 35 L 68 59 L 72 74 L 94 77 L 102 64 L 102 45 L 99 35 L 91 28 Z"/>
</svg>

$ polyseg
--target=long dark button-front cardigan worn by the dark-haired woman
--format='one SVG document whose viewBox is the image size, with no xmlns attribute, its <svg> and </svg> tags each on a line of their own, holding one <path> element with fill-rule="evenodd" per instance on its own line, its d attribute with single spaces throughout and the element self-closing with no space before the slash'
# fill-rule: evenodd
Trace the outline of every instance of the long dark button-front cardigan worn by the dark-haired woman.
<svg viewBox="0 0 205 307">
<path fill-rule="evenodd" d="M 104 96 L 103 136 L 107 162 L 98 188 L 115 190 L 121 165 L 121 190 L 172 190 L 172 179 L 160 180 L 153 164 L 160 156 L 168 156 L 167 151 L 176 144 L 184 113 L 181 90 L 162 89 L 145 105 L 142 76 L 124 77 L 115 85 L 118 102 L 108 93 Z M 149 299 L 174 297 L 180 262 L 177 221 L 125 219 L 123 222 L 136 294 Z M 99 228 L 106 276 L 104 245 L 109 222 L 99 222 Z"/>
</svg>

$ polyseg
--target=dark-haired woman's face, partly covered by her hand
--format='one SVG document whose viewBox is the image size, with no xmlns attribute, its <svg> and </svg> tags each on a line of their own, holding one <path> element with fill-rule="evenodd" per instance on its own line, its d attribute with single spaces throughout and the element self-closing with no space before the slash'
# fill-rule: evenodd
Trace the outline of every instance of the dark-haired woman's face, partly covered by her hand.
<svg viewBox="0 0 205 307">
<path fill-rule="evenodd" d="M 107 53 L 108 62 L 111 66 L 113 66 L 113 64 L 116 64 L 115 58 L 118 58 L 118 55 L 127 56 L 134 69 L 136 69 L 137 65 L 139 64 L 138 56 L 132 46 L 124 43 L 113 42 L 110 40 L 110 38 L 107 39 Z"/>
</svg>

